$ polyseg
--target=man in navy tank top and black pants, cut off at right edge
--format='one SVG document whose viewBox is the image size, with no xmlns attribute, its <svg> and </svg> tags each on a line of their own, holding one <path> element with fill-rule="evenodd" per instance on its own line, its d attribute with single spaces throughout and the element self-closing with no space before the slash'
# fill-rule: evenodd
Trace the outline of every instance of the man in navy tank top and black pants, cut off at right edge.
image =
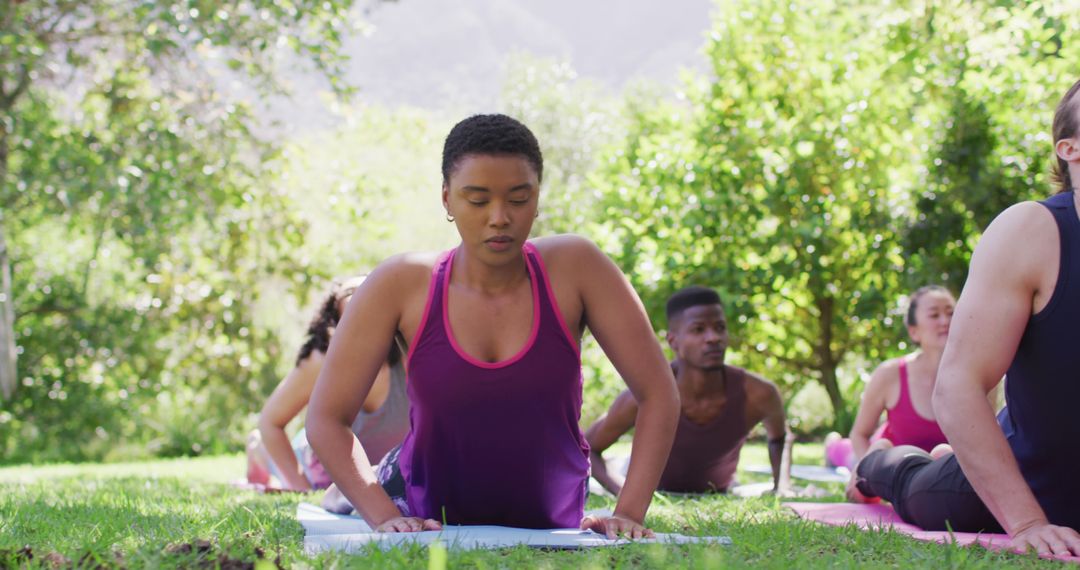
<svg viewBox="0 0 1080 570">
<path fill-rule="evenodd" d="M 933 404 L 956 452 L 872 452 L 856 486 L 924 529 L 1003 529 L 1016 548 L 1080 555 L 1080 81 L 1053 135 L 1059 192 L 990 223 L 953 317 Z M 1007 372 L 995 419 L 985 396 Z"/>
</svg>

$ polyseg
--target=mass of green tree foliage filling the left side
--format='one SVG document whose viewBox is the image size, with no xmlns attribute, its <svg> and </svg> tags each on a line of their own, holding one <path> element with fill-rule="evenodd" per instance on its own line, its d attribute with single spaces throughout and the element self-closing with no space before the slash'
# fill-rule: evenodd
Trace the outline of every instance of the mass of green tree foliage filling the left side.
<svg viewBox="0 0 1080 570">
<path fill-rule="evenodd" d="M 0 358 L 4 460 L 235 439 L 282 352 L 259 284 L 302 298 L 309 268 L 302 220 L 266 188 L 274 149 L 225 85 L 280 91 L 299 54 L 347 93 L 351 4 L 0 6 L 0 303 L 15 316 L 0 328 L 21 358 L 15 382 Z"/>
</svg>

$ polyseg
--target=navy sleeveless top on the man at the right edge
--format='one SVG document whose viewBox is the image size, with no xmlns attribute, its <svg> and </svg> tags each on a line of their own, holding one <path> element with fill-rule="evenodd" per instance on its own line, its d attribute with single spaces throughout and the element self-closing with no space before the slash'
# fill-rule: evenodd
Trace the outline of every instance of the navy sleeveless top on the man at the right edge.
<svg viewBox="0 0 1080 570">
<path fill-rule="evenodd" d="M 1080 219 L 1071 192 L 1042 205 L 1061 236 L 1057 283 L 1047 307 L 1027 322 L 998 421 L 1050 522 L 1080 530 Z"/>
</svg>

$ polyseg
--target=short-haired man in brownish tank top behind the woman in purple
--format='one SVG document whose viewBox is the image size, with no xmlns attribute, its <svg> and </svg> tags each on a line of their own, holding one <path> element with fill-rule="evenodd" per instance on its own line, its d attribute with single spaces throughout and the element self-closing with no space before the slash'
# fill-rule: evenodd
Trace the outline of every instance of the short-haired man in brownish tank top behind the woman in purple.
<svg viewBox="0 0 1080 570">
<path fill-rule="evenodd" d="M 658 489 L 728 491 L 746 436 L 761 423 L 769 440 L 773 491 L 786 494 L 791 490 L 792 438 L 783 398 L 772 382 L 725 364 L 728 329 L 719 295 L 705 287 L 679 290 L 667 301 L 667 342 L 676 355 L 672 369 L 683 413 Z M 623 392 L 585 432 L 593 477 L 616 496 L 621 484 L 608 472 L 602 453 L 634 425 L 636 412 L 633 395 Z M 781 465 L 786 467 L 782 471 Z"/>
</svg>

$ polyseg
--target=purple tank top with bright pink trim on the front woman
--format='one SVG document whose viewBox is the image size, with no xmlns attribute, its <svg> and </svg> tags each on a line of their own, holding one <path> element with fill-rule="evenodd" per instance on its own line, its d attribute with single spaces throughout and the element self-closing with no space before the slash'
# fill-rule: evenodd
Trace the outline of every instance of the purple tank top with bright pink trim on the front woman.
<svg viewBox="0 0 1080 570">
<path fill-rule="evenodd" d="M 409 351 L 411 429 L 400 459 L 409 510 L 451 525 L 577 527 L 589 477 L 589 446 L 578 426 L 581 356 L 543 260 L 525 244 L 528 341 L 509 359 L 486 363 L 467 354 L 450 330 L 455 253 L 435 263 Z"/>
</svg>

